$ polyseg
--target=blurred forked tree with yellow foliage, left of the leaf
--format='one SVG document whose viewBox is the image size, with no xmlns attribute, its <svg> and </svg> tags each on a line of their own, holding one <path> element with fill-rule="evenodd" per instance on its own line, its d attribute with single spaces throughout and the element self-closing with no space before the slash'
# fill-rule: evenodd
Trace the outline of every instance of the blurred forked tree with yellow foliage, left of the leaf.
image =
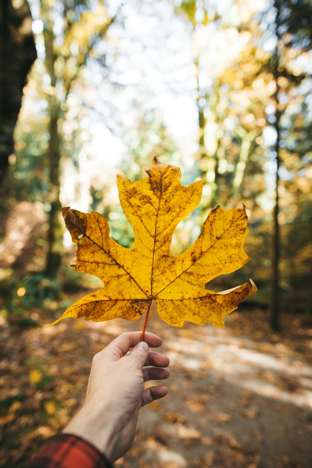
<svg viewBox="0 0 312 468">
<path fill-rule="evenodd" d="M 48 252 L 46 274 L 56 277 L 61 264 L 63 229 L 60 221 L 60 161 L 62 156 L 61 124 L 67 108 L 67 98 L 73 82 L 94 45 L 109 28 L 111 18 L 99 2 L 92 9 L 86 0 L 40 0 L 40 16 L 44 24 L 44 66 L 50 79 L 46 91 L 48 101 L 49 147 L 49 203 Z M 56 29 L 61 26 L 60 34 Z"/>
</svg>

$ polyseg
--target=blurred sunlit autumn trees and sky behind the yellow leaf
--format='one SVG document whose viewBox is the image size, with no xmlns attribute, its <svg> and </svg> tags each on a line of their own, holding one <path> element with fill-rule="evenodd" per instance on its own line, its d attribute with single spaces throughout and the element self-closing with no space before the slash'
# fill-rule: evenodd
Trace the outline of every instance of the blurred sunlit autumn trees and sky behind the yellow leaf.
<svg viewBox="0 0 312 468">
<path fill-rule="evenodd" d="M 116 173 L 138 180 L 154 156 L 181 167 L 183 185 L 204 181 L 174 255 L 210 209 L 243 203 L 252 260 L 209 289 L 252 278 L 259 291 L 240 310 L 273 330 L 283 314 L 311 316 L 311 16 L 309 0 L 1 1 L 4 338 L 101 287 L 69 268 L 60 208 L 104 214 L 131 247 Z"/>
</svg>

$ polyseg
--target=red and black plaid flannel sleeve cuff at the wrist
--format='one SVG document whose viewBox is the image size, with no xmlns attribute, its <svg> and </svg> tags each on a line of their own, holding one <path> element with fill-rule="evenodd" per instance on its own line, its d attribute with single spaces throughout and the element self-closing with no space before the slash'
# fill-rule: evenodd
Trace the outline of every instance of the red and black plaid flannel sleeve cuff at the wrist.
<svg viewBox="0 0 312 468">
<path fill-rule="evenodd" d="M 72 434 L 60 434 L 49 440 L 27 468 L 112 468 L 112 466 L 87 440 Z"/>
</svg>

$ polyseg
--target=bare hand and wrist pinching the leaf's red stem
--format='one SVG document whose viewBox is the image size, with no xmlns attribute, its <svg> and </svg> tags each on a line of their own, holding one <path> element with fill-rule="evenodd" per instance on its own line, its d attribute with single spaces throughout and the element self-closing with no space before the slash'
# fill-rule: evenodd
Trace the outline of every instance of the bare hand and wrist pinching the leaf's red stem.
<svg viewBox="0 0 312 468">
<path fill-rule="evenodd" d="M 168 392 L 165 386 L 144 390 L 147 380 L 167 379 L 169 359 L 148 350 L 161 345 L 159 336 L 145 333 L 145 342 L 140 339 L 140 331 L 123 333 L 95 354 L 86 400 L 64 429 L 91 442 L 111 462 L 131 447 L 138 410 Z"/>
</svg>

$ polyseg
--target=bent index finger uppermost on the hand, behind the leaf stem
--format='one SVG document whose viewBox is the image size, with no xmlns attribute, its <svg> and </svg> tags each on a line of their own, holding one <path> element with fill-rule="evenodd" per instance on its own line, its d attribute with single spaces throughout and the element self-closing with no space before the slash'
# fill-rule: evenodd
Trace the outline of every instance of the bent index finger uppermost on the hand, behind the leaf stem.
<svg viewBox="0 0 312 468">
<path fill-rule="evenodd" d="M 122 333 L 120 336 L 117 336 L 104 351 L 111 352 L 114 358 L 120 359 L 130 348 L 133 348 L 133 346 L 141 341 L 141 336 L 141 331 Z M 159 336 L 149 332 L 145 333 L 144 340 L 152 348 L 158 348 L 162 344 L 162 339 Z"/>
</svg>

